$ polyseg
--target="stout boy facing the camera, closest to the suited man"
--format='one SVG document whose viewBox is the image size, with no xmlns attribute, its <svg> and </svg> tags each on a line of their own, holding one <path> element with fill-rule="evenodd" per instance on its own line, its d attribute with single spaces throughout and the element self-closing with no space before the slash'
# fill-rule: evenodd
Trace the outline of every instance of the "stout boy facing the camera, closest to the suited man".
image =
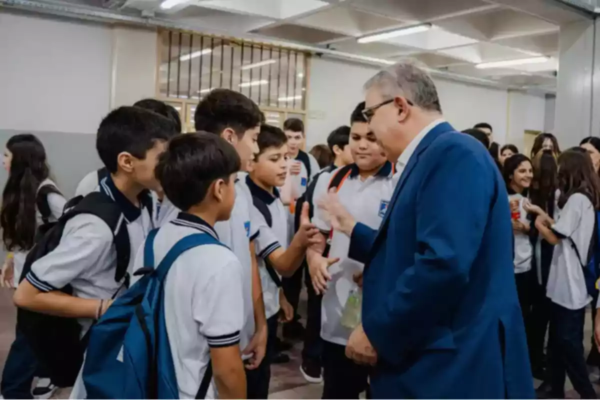
<svg viewBox="0 0 600 400">
<path fill-rule="evenodd" d="M 358 112 L 364 107 L 364 103 L 359 104 Z M 333 185 L 332 188 L 337 188 L 341 203 L 356 221 L 377 229 L 394 191 L 394 166 L 386 160 L 364 119 L 353 122 L 349 146 L 355 163 L 332 173 L 329 182 L 319 182 L 314 199 L 323 199 Z M 323 293 L 323 398 L 358 399 L 359 394 L 367 389 L 369 369 L 346 357 L 346 344 L 353 327 L 344 323 L 343 315 L 350 315 L 354 311 L 353 318 L 358 321 L 356 310 L 359 307 L 352 308 L 355 305 L 352 301 L 361 296 L 357 282 L 362 276 L 364 264 L 348 257 L 350 238 L 338 231 L 331 231 L 329 218 L 320 207 L 315 210 L 313 223 L 326 237 L 331 238 L 329 258 L 322 256 L 325 240 L 307 252 L 314 288 L 317 293 Z"/>
</svg>

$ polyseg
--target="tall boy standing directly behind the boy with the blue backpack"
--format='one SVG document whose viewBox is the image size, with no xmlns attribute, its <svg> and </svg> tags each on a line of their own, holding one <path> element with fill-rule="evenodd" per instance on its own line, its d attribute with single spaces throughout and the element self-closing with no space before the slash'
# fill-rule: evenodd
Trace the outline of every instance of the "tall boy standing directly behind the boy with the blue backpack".
<svg viewBox="0 0 600 400">
<path fill-rule="evenodd" d="M 252 100 L 229 89 L 211 91 L 200 100 L 194 115 L 196 131 L 218 135 L 233 145 L 241 158 L 242 169 L 258 151 L 256 137 L 262 119 L 262 112 Z M 245 185 L 245 176 L 244 172 L 239 172 L 236 178 L 235 205 L 230 218 L 218 221 L 214 228 L 219 240 L 232 249 L 244 267 L 245 317 L 239 343 L 247 373 L 247 396 L 260 399 L 266 396 L 259 366 L 265 357 L 267 326 L 260 275 L 254 257 L 259 221 L 252 212 L 252 196 Z M 158 216 L 159 224 L 164 225 L 177 218 L 180 211 L 169 196 L 165 196 Z"/>
</svg>

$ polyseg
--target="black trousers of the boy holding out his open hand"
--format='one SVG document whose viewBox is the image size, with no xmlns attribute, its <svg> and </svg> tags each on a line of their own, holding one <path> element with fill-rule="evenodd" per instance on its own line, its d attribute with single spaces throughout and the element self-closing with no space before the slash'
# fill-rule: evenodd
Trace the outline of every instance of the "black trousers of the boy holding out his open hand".
<svg viewBox="0 0 600 400">
<path fill-rule="evenodd" d="M 266 320 L 268 336 L 266 353 L 259 368 L 246 369 L 246 391 L 248 399 L 266 399 L 269 396 L 271 382 L 271 363 L 275 356 L 275 339 L 277 339 L 277 314 Z"/>
</svg>

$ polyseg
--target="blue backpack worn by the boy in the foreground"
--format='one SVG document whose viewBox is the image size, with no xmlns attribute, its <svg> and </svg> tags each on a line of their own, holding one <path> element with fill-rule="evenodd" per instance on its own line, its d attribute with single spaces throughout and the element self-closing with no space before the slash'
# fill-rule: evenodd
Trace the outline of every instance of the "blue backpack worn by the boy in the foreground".
<svg viewBox="0 0 600 400">
<path fill-rule="evenodd" d="M 107 309 L 89 336 L 83 382 L 89 399 L 178 399 L 179 390 L 164 320 L 164 279 L 182 252 L 206 244 L 224 246 L 206 233 L 183 237 L 154 268 L 153 230 L 144 245 L 144 275 Z M 206 397 L 209 363 L 197 399 Z"/>
</svg>

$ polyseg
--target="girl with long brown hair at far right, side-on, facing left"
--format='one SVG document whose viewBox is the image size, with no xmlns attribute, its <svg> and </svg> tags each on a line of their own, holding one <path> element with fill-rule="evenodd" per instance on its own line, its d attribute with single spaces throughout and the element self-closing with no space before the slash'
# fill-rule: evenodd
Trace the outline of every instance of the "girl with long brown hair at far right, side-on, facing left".
<svg viewBox="0 0 600 400">
<path fill-rule="evenodd" d="M 514 156 L 513 156 L 514 157 Z M 600 208 L 600 182 L 589 155 L 573 149 L 563 152 L 559 164 L 559 210 L 556 219 L 540 207 L 527 206 L 538 214 L 535 227 L 554 246 L 547 296 L 551 300 L 548 398 L 564 398 L 565 375 L 582 399 L 596 398 L 584 359 L 583 327 L 586 307 L 592 301 L 584 266 L 590 261 L 596 210 Z M 592 282 L 593 284 L 593 282 Z"/>
</svg>

